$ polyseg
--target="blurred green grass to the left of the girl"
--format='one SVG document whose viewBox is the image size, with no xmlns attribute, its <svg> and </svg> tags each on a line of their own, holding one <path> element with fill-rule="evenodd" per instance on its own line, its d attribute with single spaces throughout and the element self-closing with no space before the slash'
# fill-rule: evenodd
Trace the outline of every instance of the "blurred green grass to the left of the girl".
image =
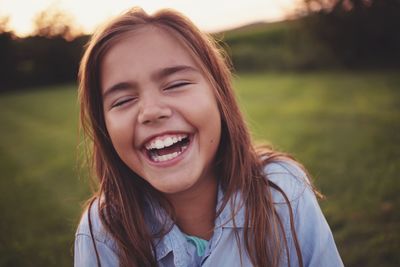
<svg viewBox="0 0 400 267">
<path fill-rule="evenodd" d="M 0 96 L 0 266 L 71 266 L 87 184 L 73 86 Z"/>
</svg>

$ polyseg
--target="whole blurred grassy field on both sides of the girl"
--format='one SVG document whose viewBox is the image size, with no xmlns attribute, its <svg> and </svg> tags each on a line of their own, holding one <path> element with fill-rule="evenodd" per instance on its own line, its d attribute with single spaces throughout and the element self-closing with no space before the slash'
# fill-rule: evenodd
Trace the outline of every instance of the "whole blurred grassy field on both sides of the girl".
<svg viewBox="0 0 400 267">
<path fill-rule="evenodd" d="M 397 75 L 398 76 L 398 75 Z M 346 266 L 400 265 L 400 78 L 246 74 L 257 141 L 310 170 Z M 74 86 L 0 96 L 0 266 L 71 266 L 88 183 L 78 173 Z"/>
</svg>

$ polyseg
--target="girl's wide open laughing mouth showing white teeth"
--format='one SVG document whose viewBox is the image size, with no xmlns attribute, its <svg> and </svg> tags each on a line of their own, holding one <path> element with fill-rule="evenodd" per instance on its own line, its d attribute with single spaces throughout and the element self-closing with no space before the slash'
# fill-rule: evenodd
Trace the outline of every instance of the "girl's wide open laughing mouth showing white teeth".
<svg viewBox="0 0 400 267">
<path fill-rule="evenodd" d="M 189 134 L 168 134 L 153 138 L 144 146 L 146 155 L 151 161 L 164 162 L 178 157 L 189 144 Z"/>
</svg>

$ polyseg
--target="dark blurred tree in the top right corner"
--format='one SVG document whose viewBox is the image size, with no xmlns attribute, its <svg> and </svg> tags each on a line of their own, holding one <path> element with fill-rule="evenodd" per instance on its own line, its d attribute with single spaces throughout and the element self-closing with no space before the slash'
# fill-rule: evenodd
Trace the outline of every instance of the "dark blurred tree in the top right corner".
<svg viewBox="0 0 400 267">
<path fill-rule="evenodd" d="M 348 67 L 400 67 L 400 0 L 304 0 L 307 27 Z"/>
</svg>

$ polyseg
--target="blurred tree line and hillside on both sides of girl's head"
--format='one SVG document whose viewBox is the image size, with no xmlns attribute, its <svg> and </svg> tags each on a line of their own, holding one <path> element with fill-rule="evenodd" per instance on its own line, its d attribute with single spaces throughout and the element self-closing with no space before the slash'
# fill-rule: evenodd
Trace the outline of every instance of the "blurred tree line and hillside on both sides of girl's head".
<svg viewBox="0 0 400 267">
<path fill-rule="evenodd" d="M 215 34 L 237 71 L 399 68 L 400 0 L 304 0 L 295 19 Z M 82 34 L 68 14 L 46 10 L 31 36 L 0 19 L 0 91 L 75 82 Z"/>
</svg>

